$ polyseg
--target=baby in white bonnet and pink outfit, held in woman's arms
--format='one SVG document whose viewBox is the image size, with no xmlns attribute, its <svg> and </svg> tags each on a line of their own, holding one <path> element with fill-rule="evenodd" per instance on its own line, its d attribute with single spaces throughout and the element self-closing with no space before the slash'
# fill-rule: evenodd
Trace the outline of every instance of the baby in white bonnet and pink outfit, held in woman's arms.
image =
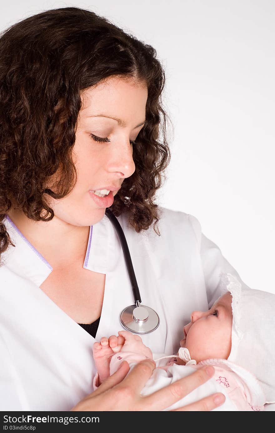
<svg viewBox="0 0 275 433">
<path fill-rule="evenodd" d="M 141 394 L 151 394 L 203 365 L 213 365 L 214 376 L 165 410 L 222 390 L 226 400 L 214 410 L 261 411 L 265 403 L 275 402 L 275 295 L 241 290 L 231 274 L 221 274 L 220 284 L 224 294 L 210 310 L 191 313 L 177 355 L 155 359 L 156 368 Z M 136 362 L 154 358 L 142 339 L 127 331 L 94 343 L 93 354 L 97 367 L 94 388 L 124 360 L 132 369 Z"/>
</svg>

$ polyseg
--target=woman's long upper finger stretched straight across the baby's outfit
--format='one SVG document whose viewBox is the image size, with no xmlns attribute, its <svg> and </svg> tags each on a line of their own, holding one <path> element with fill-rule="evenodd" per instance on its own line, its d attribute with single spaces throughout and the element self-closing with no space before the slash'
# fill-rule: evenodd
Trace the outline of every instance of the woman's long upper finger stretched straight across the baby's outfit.
<svg viewBox="0 0 275 433">
<path fill-rule="evenodd" d="M 207 367 L 200 368 L 191 375 L 185 376 L 171 385 L 165 386 L 165 388 L 155 391 L 153 394 L 143 398 L 146 400 L 146 404 L 149 404 L 151 407 L 149 410 L 163 410 L 185 397 L 185 395 L 202 385 L 213 375 L 214 368 L 211 365 L 207 365 Z"/>
</svg>

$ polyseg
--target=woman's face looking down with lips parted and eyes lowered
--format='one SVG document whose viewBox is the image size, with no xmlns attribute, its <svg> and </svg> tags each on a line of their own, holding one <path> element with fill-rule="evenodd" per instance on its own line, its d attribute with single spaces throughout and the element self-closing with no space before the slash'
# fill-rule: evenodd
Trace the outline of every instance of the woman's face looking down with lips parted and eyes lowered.
<svg viewBox="0 0 275 433">
<path fill-rule="evenodd" d="M 79 112 L 73 149 L 77 183 L 66 197 L 50 202 L 59 219 L 90 226 L 103 218 L 123 180 L 135 171 L 131 142 L 145 122 L 147 96 L 145 84 L 118 77 L 82 92 L 84 108 Z M 109 141 L 96 141 L 91 134 Z M 111 190 L 106 198 L 92 192 L 103 189 Z"/>
</svg>

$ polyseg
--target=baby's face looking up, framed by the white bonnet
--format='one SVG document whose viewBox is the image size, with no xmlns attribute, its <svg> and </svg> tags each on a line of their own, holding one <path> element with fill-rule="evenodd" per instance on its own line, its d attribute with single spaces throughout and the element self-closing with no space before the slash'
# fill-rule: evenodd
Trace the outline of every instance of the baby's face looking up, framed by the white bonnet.
<svg viewBox="0 0 275 433">
<path fill-rule="evenodd" d="M 181 347 L 187 347 L 191 359 L 227 359 L 231 351 L 232 296 L 224 294 L 210 310 L 193 311 L 191 322 L 184 326 Z"/>
</svg>

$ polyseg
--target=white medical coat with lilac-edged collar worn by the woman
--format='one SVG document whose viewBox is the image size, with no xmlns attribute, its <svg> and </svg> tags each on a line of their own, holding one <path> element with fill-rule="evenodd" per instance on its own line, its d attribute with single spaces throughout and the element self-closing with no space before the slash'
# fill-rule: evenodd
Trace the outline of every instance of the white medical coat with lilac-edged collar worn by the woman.
<svg viewBox="0 0 275 433">
<path fill-rule="evenodd" d="M 171 355 L 191 311 L 207 310 L 220 296 L 220 272 L 244 283 L 194 216 L 161 211 L 161 236 L 152 228 L 136 233 L 126 216 L 118 220 L 142 303 L 160 317 L 158 329 L 142 336 L 143 342 L 152 352 Z M 39 288 L 51 265 L 9 220 L 5 225 L 15 248 L 1 256 L 0 410 L 70 410 L 93 391 L 94 342 L 122 329 L 120 311 L 134 301 L 119 238 L 107 216 L 91 226 L 83 266 L 106 274 L 94 339 Z"/>
</svg>

